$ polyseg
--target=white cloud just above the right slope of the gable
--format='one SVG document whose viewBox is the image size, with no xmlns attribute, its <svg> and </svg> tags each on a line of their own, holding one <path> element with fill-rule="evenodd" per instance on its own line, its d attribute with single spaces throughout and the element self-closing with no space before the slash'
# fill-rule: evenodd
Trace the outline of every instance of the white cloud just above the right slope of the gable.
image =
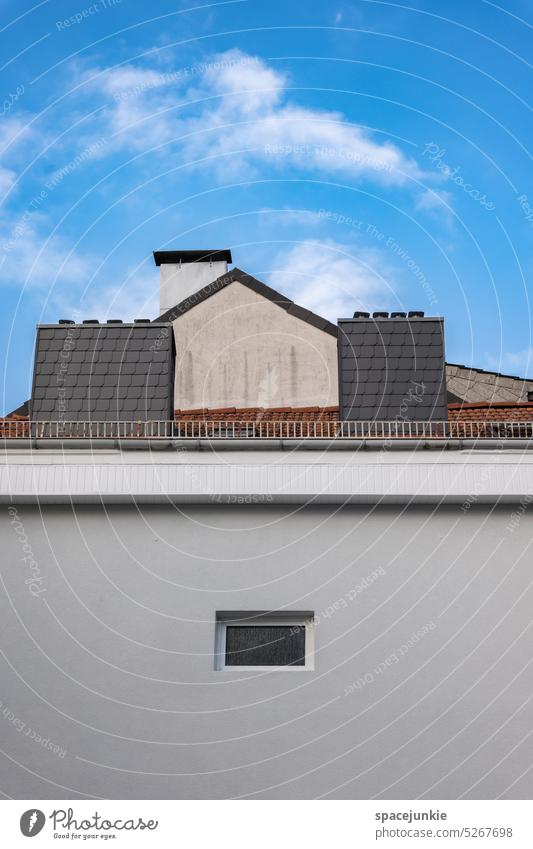
<svg viewBox="0 0 533 849">
<path fill-rule="evenodd" d="M 356 250 L 333 240 L 305 241 L 278 255 L 270 285 L 336 322 L 355 310 L 371 312 L 396 303 L 391 278 L 379 251 Z"/>
</svg>

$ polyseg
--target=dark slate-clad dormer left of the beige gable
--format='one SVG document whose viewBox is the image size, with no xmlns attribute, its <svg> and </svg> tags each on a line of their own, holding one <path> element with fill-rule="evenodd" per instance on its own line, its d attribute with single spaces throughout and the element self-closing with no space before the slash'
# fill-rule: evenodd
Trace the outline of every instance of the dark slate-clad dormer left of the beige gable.
<svg viewBox="0 0 533 849">
<path fill-rule="evenodd" d="M 37 327 L 33 420 L 169 420 L 173 393 L 167 322 Z"/>
</svg>

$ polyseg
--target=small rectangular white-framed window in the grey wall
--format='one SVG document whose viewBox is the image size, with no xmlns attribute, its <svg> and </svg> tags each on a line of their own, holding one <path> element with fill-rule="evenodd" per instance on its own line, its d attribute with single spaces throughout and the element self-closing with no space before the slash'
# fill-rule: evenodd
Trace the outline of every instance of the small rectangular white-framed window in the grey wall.
<svg viewBox="0 0 533 849">
<path fill-rule="evenodd" d="M 313 669 L 312 613 L 217 613 L 217 669 Z"/>
</svg>

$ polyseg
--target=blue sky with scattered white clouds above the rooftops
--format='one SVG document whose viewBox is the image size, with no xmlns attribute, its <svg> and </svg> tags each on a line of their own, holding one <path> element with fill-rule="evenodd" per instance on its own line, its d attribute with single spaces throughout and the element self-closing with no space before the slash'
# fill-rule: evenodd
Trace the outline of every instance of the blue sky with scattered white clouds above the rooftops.
<svg viewBox="0 0 533 849">
<path fill-rule="evenodd" d="M 155 317 L 152 251 L 230 247 L 332 320 L 446 319 L 533 377 L 533 8 L 0 0 L 2 407 L 34 326 Z"/>
</svg>

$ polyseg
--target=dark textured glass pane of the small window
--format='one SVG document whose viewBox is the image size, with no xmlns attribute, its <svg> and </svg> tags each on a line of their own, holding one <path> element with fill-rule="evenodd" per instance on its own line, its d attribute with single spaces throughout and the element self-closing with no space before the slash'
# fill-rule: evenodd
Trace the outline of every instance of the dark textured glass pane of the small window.
<svg viewBox="0 0 533 849">
<path fill-rule="evenodd" d="M 228 625 L 226 666 L 305 666 L 305 626 Z"/>
</svg>

